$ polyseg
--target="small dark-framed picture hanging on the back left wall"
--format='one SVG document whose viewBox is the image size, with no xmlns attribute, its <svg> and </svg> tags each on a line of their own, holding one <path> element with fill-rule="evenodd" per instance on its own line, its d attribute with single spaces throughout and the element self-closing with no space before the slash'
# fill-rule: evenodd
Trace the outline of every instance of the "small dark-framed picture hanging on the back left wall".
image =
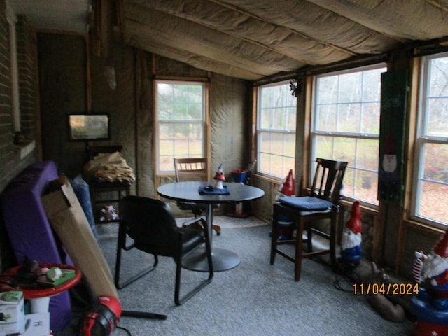
<svg viewBox="0 0 448 336">
<path fill-rule="evenodd" d="M 109 140 L 109 113 L 69 114 L 69 139 L 71 141 Z"/>
</svg>

